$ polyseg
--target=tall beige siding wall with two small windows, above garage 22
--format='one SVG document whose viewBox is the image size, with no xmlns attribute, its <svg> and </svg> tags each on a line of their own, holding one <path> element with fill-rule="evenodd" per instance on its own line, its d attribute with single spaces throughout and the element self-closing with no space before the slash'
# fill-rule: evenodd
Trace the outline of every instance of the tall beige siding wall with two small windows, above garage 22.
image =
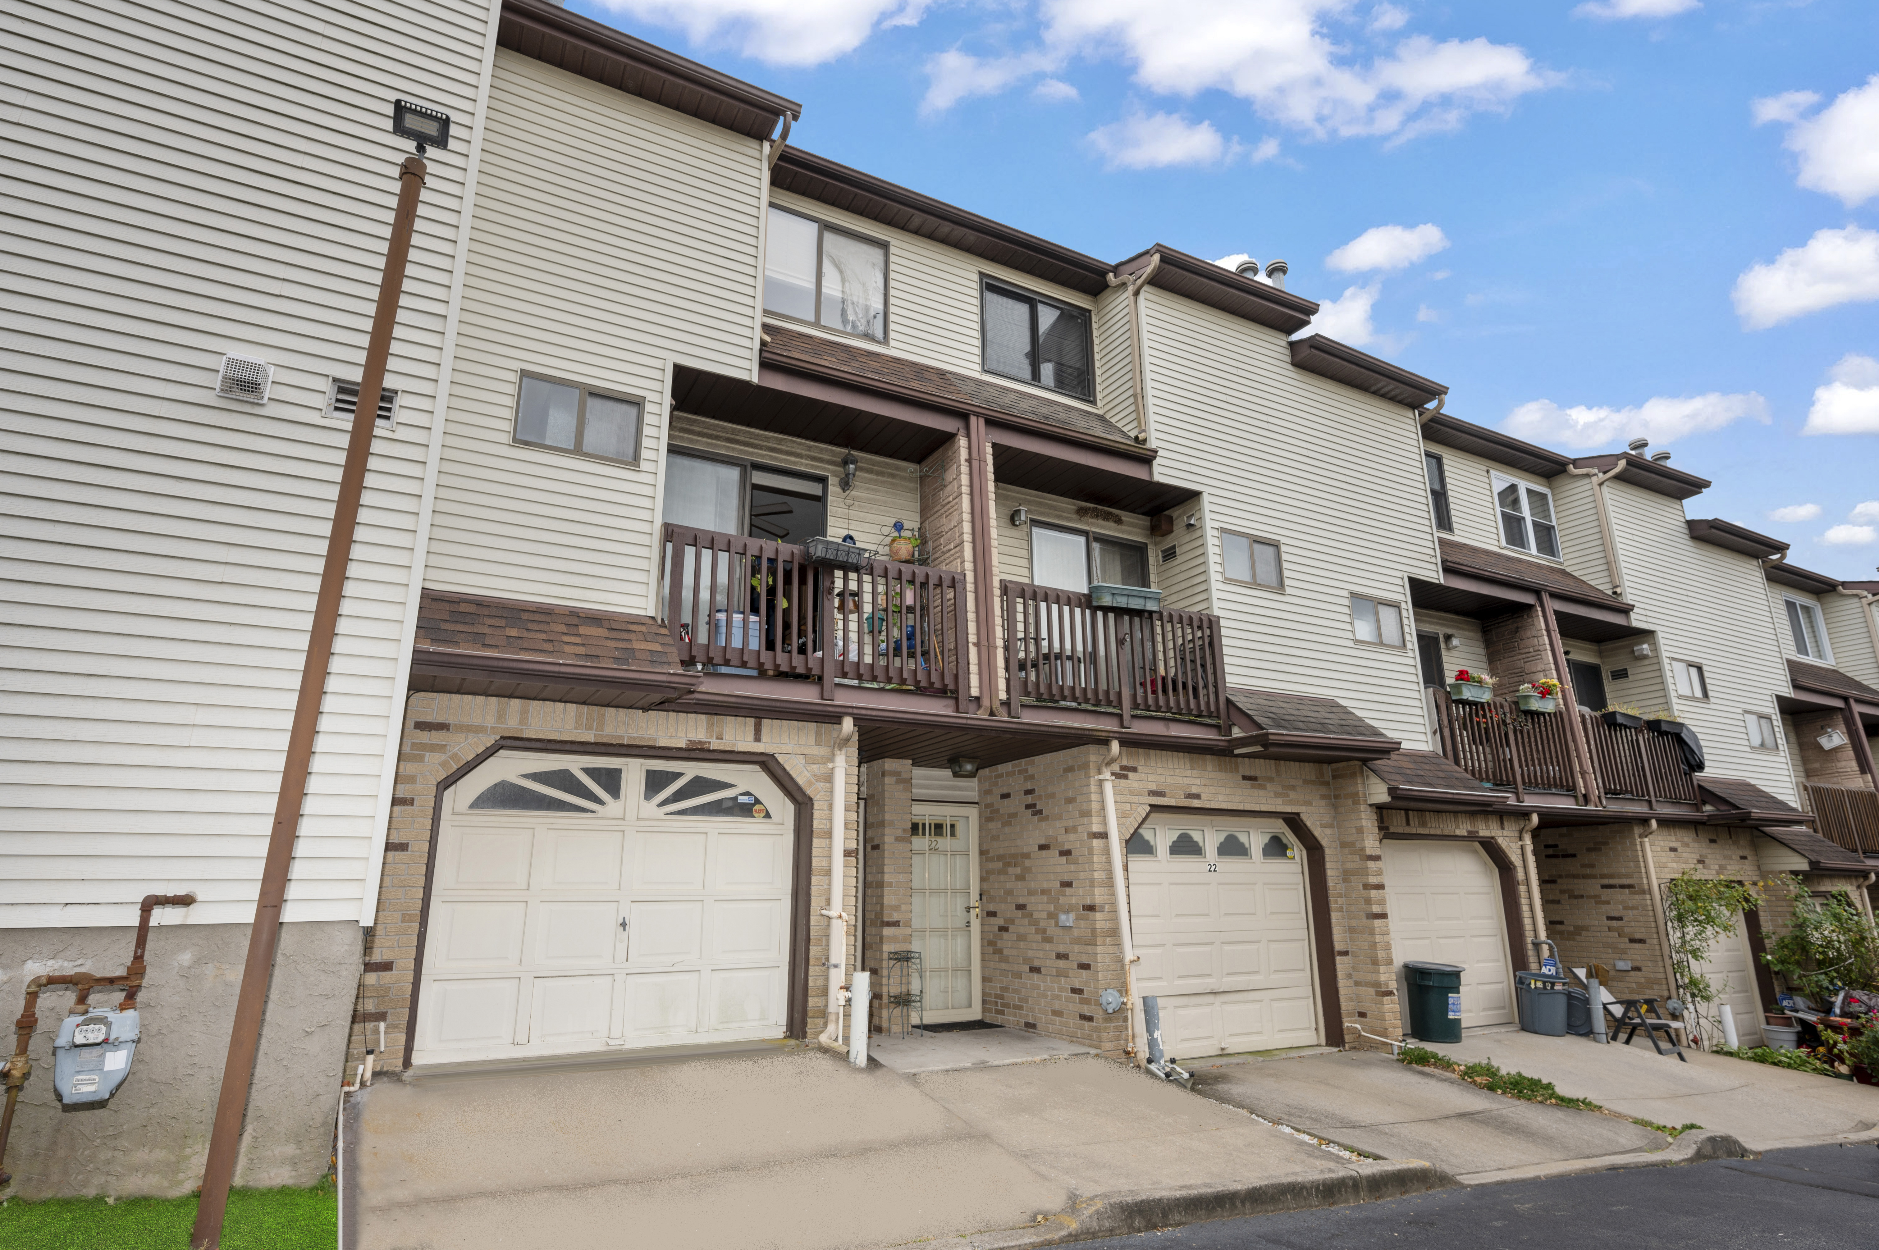
<svg viewBox="0 0 1879 1250">
<path fill-rule="evenodd" d="M 1426 741 L 1415 648 L 1353 637 L 1351 594 L 1402 603 L 1439 581 L 1407 408 L 1306 374 L 1285 336 L 1150 288 L 1156 476 L 1206 491 L 1216 613 L 1235 686 L 1330 694 Z M 1276 539 L 1285 592 L 1219 579 L 1219 530 Z M 1405 628 L 1407 628 L 1405 618 Z"/>
</svg>

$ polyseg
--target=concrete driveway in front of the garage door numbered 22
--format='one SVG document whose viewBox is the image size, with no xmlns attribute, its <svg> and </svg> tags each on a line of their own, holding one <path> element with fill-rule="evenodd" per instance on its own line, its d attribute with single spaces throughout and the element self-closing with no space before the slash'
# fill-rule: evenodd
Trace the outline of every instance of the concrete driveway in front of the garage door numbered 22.
<svg viewBox="0 0 1879 1250">
<path fill-rule="evenodd" d="M 1514 1102 L 1370 1051 L 1199 1068 L 1193 1088 L 1366 1154 L 1428 1160 L 1464 1184 L 1670 1145 L 1629 1120 Z"/>
</svg>

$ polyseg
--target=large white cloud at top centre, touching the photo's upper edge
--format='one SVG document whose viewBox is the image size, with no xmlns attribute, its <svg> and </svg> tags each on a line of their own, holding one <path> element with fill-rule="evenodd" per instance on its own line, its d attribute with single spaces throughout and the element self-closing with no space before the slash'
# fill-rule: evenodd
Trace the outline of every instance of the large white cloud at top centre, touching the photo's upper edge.
<svg viewBox="0 0 1879 1250">
<path fill-rule="evenodd" d="M 1522 49 L 1483 38 L 1409 36 L 1366 60 L 1345 38 L 1359 32 L 1332 28 L 1349 23 L 1351 0 L 1041 0 L 1041 17 L 1035 53 L 934 58 L 926 107 L 1003 90 L 1073 56 L 1120 56 L 1157 94 L 1225 90 L 1313 137 L 1407 139 L 1505 113 L 1558 81 Z M 1372 23 L 1392 30 L 1394 15 L 1377 9 Z"/>
</svg>

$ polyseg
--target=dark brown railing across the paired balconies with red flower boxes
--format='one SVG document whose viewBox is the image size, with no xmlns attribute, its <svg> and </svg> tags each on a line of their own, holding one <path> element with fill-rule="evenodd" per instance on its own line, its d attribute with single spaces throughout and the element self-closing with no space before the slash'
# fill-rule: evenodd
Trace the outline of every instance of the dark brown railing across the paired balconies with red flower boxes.
<svg viewBox="0 0 1879 1250">
<path fill-rule="evenodd" d="M 1516 699 L 1458 703 L 1432 690 L 1441 754 L 1475 780 L 1505 786 L 1518 801 L 1528 789 L 1578 793 L 1565 718 L 1573 712 L 1522 712 Z M 1697 782 L 1684 767 L 1676 739 L 1654 729 L 1608 726 L 1576 712 L 1592 771 L 1607 797 L 1652 805 L 1697 803 Z M 1590 799 L 1590 795 L 1580 795 Z"/>
</svg>

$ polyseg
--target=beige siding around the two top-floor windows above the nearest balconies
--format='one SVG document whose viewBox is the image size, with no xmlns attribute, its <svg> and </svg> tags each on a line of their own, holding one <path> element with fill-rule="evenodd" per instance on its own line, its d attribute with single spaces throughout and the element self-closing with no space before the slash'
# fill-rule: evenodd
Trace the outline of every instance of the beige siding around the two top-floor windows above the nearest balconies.
<svg viewBox="0 0 1879 1250">
<path fill-rule="evenodd" d="M 770 203 L 778 209 L 789 209 L 791 212 L 800 212 L 802 216 L 812 216 L 815 220 L 829 222 L 831 226 L 849 229 L 857 235 L 887 242 L 885 344 L 877 344 L 870 338 L 857 338 L 855 335 L 842 335 L 840 331 L 831 331 L 821 325 L 806 325 L 802 321 L 789 321 L 789 325 L 861 348 L 904 355 L 911 361 L 921 361 L 923 365 L 951 368 L 960 374 L 979 374 L 988 382 L 1011 385 L 1013 389 L 1028 395 L 1047 395 L 1067 404 L 1080 402 L 1075 397 L 1050 391 L 1048 387 L 1033 387 L 1024 382 L 1013 382 L 983 372 L 985 353 L 983 338 L 979 335 L 979 278 L 992 276 L 1035 295 L 1045 295 L 1071 305 L 1073 308 L 1092 310 L 1090 333 L 1101 342 L 1107 342 L 1107 338 L 1101 336 L 1103 329 L 1095 325 L 1095 301 L 1092 297 L 1050 282 L 1039 282 L 1030 274 L 983 261 L 970 252 L 960 252 L 930 239 L 921 239 L 919 235 L 911 235 L 904 229 L 893 229 L 889 226 L 881 226 L 879 222 L 870 222 L 855 212 L 844 212 L 832 205 L 793 195 L 782 188 L 770 188 Z M 1120 338 L 1116 346 L 1126 348 L 1127 336 Z M 1124 357 L 1122 370 L 1126 372 L 1127 368 L 1129 363 L 1127 357 Z M 1110 376 L 1110 363 L 1099 359 L 1095 368 L 1099 402 L 1107 402 L 1109 398 L 1103 389 Z"/>
</svg>

